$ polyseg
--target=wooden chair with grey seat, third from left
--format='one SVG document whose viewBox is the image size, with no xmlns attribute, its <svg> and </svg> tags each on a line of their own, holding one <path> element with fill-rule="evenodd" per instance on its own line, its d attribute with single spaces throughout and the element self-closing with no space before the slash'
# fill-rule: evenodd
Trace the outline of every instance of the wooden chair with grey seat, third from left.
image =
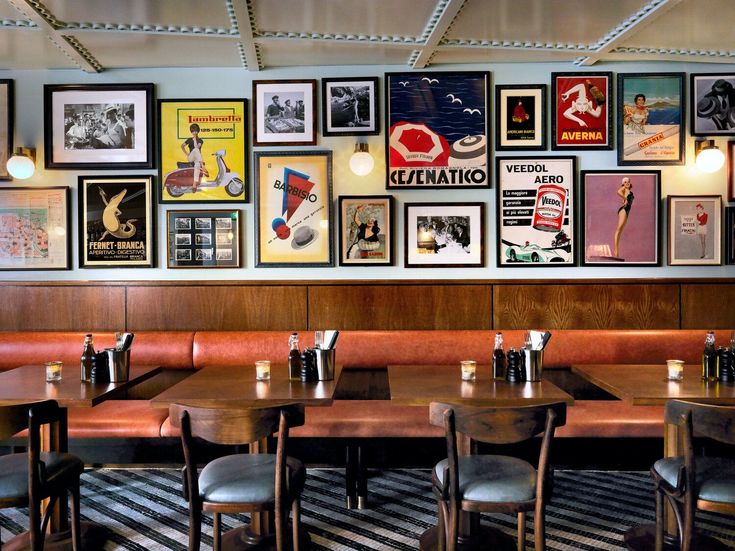
<svg viewBox="0 0 735 551">
<path fill-rule="evenodd" d="M 476 407 L 434 402 L 430 420 L 433 425 L 444 426 L 447 438 L 447 459 L 434 467 L 432 476 L 439 504 L 438 548 L 457 548 L 460 512 L 466 511 L 517 514 L 518 549 L 522 551 L 526 512 L 535 511 L 535 549 L 545 549 L 551 441 L 555 428 L 566 423 L 566 404 Z M 470 455 L 459 455 L 457 433 L 469 439 Z M 516 444 L 541 433 L 537 469 L 515 457 L 477 454 L 478 442 Z"/>
</svg>

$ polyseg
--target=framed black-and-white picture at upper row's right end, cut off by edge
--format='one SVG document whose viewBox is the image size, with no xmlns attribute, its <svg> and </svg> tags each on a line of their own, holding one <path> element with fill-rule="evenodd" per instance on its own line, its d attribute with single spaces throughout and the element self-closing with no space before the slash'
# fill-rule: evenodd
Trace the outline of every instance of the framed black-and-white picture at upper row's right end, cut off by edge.
<svg viewBox="0 0 735 551">
<path fill-rule="evenodd" d="M 689 78 L 692 136 L 735 136 L 735 74 L 692 73 Z"/>
</svg>

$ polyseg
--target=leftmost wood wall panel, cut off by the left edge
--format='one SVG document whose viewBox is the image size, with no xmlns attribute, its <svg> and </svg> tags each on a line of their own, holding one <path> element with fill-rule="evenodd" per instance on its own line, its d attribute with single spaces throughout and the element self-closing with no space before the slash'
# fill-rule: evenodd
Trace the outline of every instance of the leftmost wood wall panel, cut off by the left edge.
<svg viewBox="0 0 735 551">
<path fill-rule="evenodd" d="M 125 327 L 125 288 L 0 287 L 0 331 L 119 331 Z"/>
</svg>

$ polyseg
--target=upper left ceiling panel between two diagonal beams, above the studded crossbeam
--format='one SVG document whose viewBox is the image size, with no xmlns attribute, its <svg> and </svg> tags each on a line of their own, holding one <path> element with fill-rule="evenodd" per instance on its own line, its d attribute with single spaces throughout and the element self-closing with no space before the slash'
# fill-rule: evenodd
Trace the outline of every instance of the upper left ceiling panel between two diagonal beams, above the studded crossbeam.
<svg viewBox="0 0 735 551">
<path fill-rule="evenodd" d="M 56 19 L 65 22 L 230 27 L 225 0 L 44 0 L 43 3 Z"/>
</svg>

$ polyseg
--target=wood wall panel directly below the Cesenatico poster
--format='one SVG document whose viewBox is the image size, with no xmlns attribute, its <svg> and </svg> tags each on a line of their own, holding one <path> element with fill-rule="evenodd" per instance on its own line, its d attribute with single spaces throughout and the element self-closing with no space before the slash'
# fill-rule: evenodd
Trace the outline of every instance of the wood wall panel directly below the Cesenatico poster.
<svg viewBox="0 0 735 551">
<path fill-rule="evenodd" d="M 309 287 L 309 329 L 490 329 L 491 285 Z"/>
</svg>

